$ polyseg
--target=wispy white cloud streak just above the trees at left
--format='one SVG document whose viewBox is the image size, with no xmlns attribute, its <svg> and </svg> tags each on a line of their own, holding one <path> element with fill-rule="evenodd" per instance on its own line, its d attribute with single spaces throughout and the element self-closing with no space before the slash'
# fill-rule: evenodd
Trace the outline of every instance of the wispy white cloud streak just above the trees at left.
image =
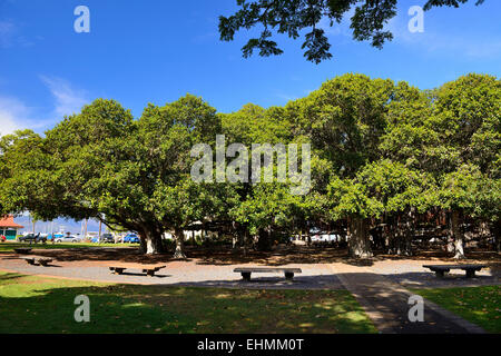
<svg viewBox="0 0 501 356">
<path fill-rule="evenodd" d="M 55 112 L 59 118 L 80 112 L 88 102 L 85 90 L 73 88 L 67 80 L 56 77 L 40 76 L 56 99 Z"/>
</svg>

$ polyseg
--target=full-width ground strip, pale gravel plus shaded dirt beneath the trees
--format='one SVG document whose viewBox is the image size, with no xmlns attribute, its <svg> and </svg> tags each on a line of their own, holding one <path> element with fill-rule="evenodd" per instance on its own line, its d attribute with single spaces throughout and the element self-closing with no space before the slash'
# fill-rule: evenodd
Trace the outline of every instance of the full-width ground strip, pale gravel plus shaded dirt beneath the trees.
<svg viewBox="0 0 501 356">
<path fill-rule="evenodd" d="M 499 254 L 475 256 L 469 264 L 488 264 L 490 268 L 465 278 L 464 271 L 451 270 L 445 278 L 436 278 L 426 264 L 455 264 L 436 254 L 422 254 L 414 258 L 380 256 L 371 261 L 347 259 L 343 251 L 334 249 L 293 249 L 269 255 L 242 257 L 228 251 L 200 251 L 189 254 L 187 261 L 171 260 L 168 256 L 145 257 L 134 249 L 65 249 L 33 250 L 31 255 L 51 257 L 49 267 L 30 266 L 16 254 L 0 254 L 0 268 L 22 274 L 43 275 L 86 280 L 128 284 L 151 284 L 199 287 L 342 289 L 338 274 L 370 270 L 404 287 L 455 287 L 500 284 L 501 258 Z M 166 266 L 155 277 L 141 273 L 141 266 Z M 109 266 L 126 266 L 124 275 L 112 275 Z M 236 267 L 272 266 L 301 268 L 294 281 L 286 281 L 282 274 L 254 274 L 253 280 L 243 281 Z"/>
</svg>

